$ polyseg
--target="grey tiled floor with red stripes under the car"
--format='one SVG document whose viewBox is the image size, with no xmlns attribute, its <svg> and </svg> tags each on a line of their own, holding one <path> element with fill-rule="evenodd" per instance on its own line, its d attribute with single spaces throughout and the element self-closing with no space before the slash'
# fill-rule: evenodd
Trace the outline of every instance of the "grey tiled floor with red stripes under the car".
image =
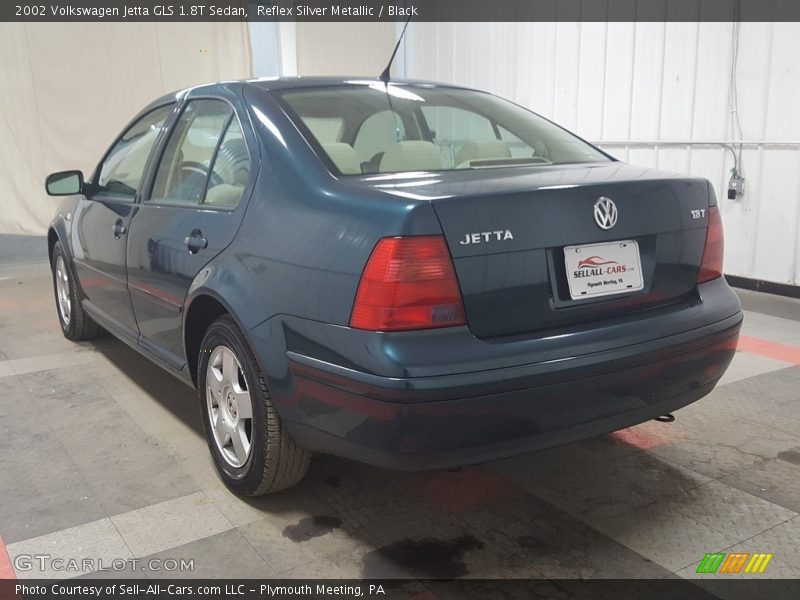
<svg viewBox="0 0 800 600">
<path fill-rule="evenodd" d="M 245 501 L 213 471 L 192 390 L 111 337 L 65 340 L 46 266 L 0 269 L 0 573 L 4 543 L 12 560 L 141 559 L 123 574 L 147 577 L 693 577 L 728 549 L 800 577 L 800 302 L 741 296 L 747 349 L 674 424 L 458 472 L 319 456 Z M 172 559 L 194 569 L 158 570 Z"/>
</svg>

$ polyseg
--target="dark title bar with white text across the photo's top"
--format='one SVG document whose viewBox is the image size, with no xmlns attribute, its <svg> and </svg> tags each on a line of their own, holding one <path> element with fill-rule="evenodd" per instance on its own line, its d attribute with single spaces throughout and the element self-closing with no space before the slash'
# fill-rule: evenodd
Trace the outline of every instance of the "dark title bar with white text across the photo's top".
<svg viewBox="0 0 800 600">
<path fill-rule="evenodd" d="M 3 0 L 0 21 L 800 21 L 800 0 Z"/>
</svg>

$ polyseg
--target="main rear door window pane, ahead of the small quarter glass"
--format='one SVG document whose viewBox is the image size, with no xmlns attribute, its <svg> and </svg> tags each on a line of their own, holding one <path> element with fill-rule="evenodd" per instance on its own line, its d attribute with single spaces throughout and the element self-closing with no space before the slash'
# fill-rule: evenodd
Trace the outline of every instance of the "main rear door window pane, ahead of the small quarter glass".
<svg viewBox="0 0 800 600">
<path fill-rule="evenodd" d="M 161 156 L 150 201 L 190 206 L 202 204 L 206 189 L 221 183 L 220 174 L 213 172 L 214 155 L 220 138 L 233 121 L 233 109 L 227 102 L 189 102 Z M 239 134 L 241 140 L 241 129 Z M 234 135 L 231 134 L 230 143 L 236 141 Z"/>
</svg>

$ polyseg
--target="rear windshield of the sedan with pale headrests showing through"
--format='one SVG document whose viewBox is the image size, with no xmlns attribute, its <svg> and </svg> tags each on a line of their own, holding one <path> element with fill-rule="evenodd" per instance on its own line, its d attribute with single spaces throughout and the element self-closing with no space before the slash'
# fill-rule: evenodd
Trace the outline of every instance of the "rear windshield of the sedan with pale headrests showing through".
<svg viewBox="0 0 800 600">
<path fill-rule="evenodd" d="M 546 119 L 483 92 L 368 82 L 278 96 L 328 166 L 344 175 L 609 160 Z"/>
</svg>

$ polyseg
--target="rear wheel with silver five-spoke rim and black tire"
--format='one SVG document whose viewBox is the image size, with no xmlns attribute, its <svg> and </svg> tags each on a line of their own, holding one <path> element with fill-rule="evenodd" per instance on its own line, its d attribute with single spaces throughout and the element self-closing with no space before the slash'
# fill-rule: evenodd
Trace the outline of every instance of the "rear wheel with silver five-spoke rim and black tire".
<svg viewBox="0 0 800 600">
<path fill-rule="evenodd" d="M 197 379 L 206 441 L 225 485 L 260 496 L 303 479 L 311 453 L 281 423 L 264 374 L 229 316 L 206 331 Z"/>
</svg>

